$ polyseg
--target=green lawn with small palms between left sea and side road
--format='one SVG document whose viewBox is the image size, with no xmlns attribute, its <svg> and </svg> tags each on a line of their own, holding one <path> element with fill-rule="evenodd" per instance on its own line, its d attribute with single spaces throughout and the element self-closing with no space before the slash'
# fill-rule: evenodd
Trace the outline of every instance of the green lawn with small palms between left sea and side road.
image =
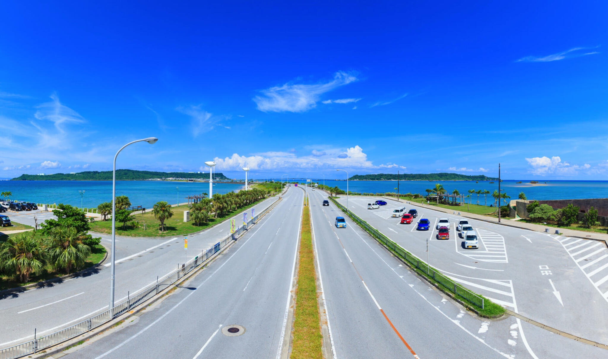
<svg viewBox="0 0 608 359">
<path fill-rule="evenodd" d="M 262 199 L 264 200 L 264 199 Z M 238 213 L 243 213 L 249 208 L 253 207 L 259 202 L 252 203 L 251 205 L 240 208 L 238 210 L 234 210 L 230 213 L 227 213 L 223 217 L 218 218 L 210 218 L 209 222 L 202 225 L 194 225 L 192 221 L 184 222 L 184 211 L 188 210 L 187 205 L 182 205 L 179 207 L 171 207 L 173 210 L 173 217 L 165 220 L 165 231 L 161 232 L 161 222 L 157 221 L 154 218 L 153 214 L 148 213 L 139 213 L 134 214 L 134 219 L 139 222 L 139 227 L 132 228 L 126 225 L 125 229 L 122 228 L 122 223 L 116 223 L 116 234 L 119 236 L 131 236 L 131 237 L 168 237 L 168 236 L 181 236 L 184 234 L 195 233 L 205 228 L 209 228 L 212 225 L 218 224 L 219 222 L 225 221 L 230 217 L 234 216 Z M 247 213 L 247 221 L 251 219 L 251 211 Z M 243 224 L 243 221 L 237 219 L 237 227 Z M 143 224 L 146 224 L 146 229 L 143 228 Z M 91 230 L 98 233 L 112 233 L 112 221 L 95 221 L 91 223 Z"/>
</svg>

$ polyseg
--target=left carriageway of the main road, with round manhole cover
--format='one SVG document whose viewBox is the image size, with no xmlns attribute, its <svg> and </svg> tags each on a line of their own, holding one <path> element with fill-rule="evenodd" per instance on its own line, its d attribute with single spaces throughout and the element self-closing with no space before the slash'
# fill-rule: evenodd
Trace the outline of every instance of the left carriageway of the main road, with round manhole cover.
<svg viewBox="0 0 608 359">
<path fill-rule="evenodd" d="M 291 292 L 303 191 L 283 201 L 229 250 L 130 326 L 67 357 L 274 358 Z M 229 336 L 226 326 L 242 326 Z"/>
</svg>

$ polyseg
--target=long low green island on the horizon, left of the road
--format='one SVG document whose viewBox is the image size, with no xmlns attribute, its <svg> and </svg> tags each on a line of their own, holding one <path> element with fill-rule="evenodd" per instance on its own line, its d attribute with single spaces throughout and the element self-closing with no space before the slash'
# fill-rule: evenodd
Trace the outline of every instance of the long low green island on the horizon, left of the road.
<svg viewBox="0 0 608 359">
<path fill-rule="evenodd" d="M 134 169 L 117 169 L 116 180 L 195 180 L 209 179 L 209 173 L 192 172 L 154 172 L 136 171 Z M 44 181 L 44 180 L 89 180 L 107 181 L 112 180 L 112 171 L 85 171 L 78 173 L 55 173 L 55 174 L 22 174 L 11 179 L 12 181 Z M 230 180 L 222 173 L 213 173 L 213 180 Z"/>
</svg>

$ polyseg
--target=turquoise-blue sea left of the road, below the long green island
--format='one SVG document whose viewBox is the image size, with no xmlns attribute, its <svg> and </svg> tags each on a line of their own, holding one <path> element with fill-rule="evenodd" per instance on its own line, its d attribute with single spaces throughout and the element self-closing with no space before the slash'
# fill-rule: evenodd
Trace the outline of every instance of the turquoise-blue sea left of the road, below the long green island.
<svg viewBox="0 0 608 359">
<path fill-rule="evenodd" d="M 213 193 L 229 193 L 243 188 L 233 183 L 213 183 Z M 111 202 L 112 181 L 0 181 L 0 192 L 12 193 L 11 200 L 34 203 L 69 204 L 84 208 Z M 79 191 L 85 191 L 80 195 Z M 116 181 L 116 196 L 127 196 L 133 206 L 152 208 L 159 200 L 174 204 L 188 202 L 187 196 L 209 193 L 208 182 Z"/>
</svg>

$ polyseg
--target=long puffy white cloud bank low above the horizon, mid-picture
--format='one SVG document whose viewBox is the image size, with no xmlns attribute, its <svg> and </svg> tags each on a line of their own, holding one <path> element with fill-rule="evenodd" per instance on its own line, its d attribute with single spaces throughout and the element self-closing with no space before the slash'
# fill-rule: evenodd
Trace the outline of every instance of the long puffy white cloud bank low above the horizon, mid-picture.
<svg viewBox="0 0 608 359">
<path fill-rule="evenodd" d="M 214 161 L 218 170 L 238 170 L 243 166 L 247 166 L 252 170 L 280 168 L 405 168 L 393 163 L 379 166 L 373 165 L 367 159 L 367 154 L 359 146 L 346 149 L 325 148 L 323 151 L 314 149 L 308 156 L 300 157 L 291 152 L 263 152 L 252 154 L 252 156 L 241 156 L 235 153 L 231 157 L 225 157 L 224 159 L 216 157 Z"/>
</svg>

